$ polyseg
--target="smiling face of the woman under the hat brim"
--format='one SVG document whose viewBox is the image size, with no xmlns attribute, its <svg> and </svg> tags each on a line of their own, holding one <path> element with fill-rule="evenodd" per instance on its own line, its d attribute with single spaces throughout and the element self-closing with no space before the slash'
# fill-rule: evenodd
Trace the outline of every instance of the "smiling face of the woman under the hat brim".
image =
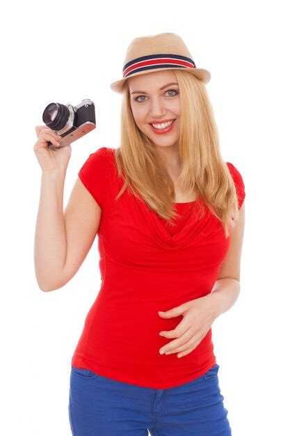
<svg viewBox="0 0 290 436">
<path fill-rule="evenodd" d="M 174 72 L 164 70 L 129 77 L 128 86 L 132 114 L 141 132 L 157 147 L 175 146 L 179 137 L 180 102 Z M 167 121 L 172 124 L 162 125 Z"/>
</svg>

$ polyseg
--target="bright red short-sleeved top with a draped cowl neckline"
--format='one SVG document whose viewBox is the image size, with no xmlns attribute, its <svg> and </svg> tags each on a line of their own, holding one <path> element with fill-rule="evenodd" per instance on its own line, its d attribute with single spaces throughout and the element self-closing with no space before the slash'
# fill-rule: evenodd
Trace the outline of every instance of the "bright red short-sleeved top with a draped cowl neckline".
<svg viewBox="0 0 290 436">
<path fill-rule="evenodd" d="M 181 358 L 160 355 L 182 316 L 161 318 L 158 311 L 211 293 L 229 249 L 223 226 L 208 209 L 198 219 L 198 203 L 176 203 L 179 226 L 166 221 L 128 189 L 115 201 L 124 182 L 115 168 L 114 148 L 89 155 L 79 178 L 102 208 L 98 230 L 102 285 L 83 325 L 72 365 L 113 380 L 153 389 L 184 384 L 216 364 L 211 329 Z M 239 198 L 243 179 L 227 162 Z"/>
</svg>

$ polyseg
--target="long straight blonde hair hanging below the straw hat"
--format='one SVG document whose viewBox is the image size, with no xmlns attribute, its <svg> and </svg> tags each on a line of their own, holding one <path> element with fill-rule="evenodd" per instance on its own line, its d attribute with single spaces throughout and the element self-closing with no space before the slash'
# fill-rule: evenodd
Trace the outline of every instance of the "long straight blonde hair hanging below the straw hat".
<svg viewBox="0 0 290 436">
<path fill-rule="evenodd" d="M 220 155 L 218 129 L 205 84 L 186 71 L 174 70 L 179 86 L 180 117 L 177 148 L 183 192 L 198 192 L 202 216 L 204 204 L 221 221 L 226 238 L 239 216 L 236 188 Z M 169 224 L 175 211 L 175 187 L 163 157 L 140 131 L 131 111 L 129 86 L 123 86 L 120 147 L 115 150 L 118 175 L 124 185 L 115 200 L 129 189 Z M 201 216 L 201 217 L 202 217 Z M 173 224 L 174 225 L 174 224 Z"/>
</svg>

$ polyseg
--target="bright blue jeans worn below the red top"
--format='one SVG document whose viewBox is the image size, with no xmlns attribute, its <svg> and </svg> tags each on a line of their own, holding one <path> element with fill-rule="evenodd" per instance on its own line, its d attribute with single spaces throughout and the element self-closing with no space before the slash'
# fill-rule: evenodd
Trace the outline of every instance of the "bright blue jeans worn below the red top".
<svg viewBox="0 0 290 436">
<path fill-rule="evenodd" d="M 218 368 L 177 387 L 151 389 L 72 366 L 72 435 L 231 436 Z"/>
</svg>

